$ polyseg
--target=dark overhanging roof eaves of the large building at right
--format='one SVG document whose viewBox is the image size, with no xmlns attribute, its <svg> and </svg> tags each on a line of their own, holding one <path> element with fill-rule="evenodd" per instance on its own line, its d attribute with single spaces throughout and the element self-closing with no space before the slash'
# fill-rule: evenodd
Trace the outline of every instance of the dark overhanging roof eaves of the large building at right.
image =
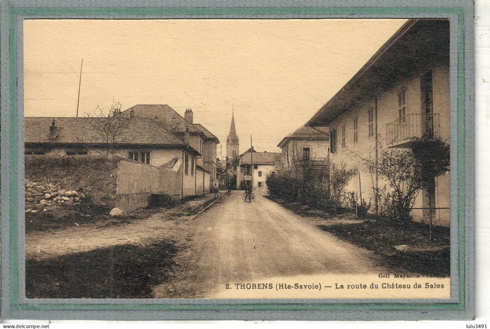
<svg viewBox="0 0 490 329">
<path fill-rule="evenodd" d="M 448 19 L 408 20 L 306 125 L 329 126 L 359 101 L 393 88 L 393 77 L 409 79 L 449 64 L 449 34 Z"/>
</svg>

